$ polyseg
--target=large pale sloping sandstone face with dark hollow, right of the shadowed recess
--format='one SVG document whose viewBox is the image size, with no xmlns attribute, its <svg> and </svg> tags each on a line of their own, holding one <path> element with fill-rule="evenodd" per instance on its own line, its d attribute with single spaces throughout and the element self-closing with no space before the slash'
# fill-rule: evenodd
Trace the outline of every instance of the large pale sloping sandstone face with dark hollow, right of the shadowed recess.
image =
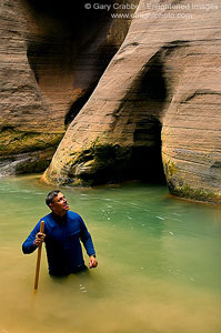
<svg viewBox="0 0 221 333">
<path fill-rule="evenodd" d="M 221 202 L 221 7 L 140 1 L 121 48 L 43 175 L 59 184 L 163 178 Z"/>
</svg>

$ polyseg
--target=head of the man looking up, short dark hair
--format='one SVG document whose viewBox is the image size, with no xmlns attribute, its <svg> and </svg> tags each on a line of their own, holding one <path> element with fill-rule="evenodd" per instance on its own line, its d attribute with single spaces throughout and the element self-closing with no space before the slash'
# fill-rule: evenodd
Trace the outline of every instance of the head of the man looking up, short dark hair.
<svg viewBox="0 0 221 333">
<path fill-rule="evenodd" d="M 63 216 L 69 210 L 68 201 L 60 190 L 51 191 L 46 198 L 46 204 L 59 216 Z"/>
</svg>

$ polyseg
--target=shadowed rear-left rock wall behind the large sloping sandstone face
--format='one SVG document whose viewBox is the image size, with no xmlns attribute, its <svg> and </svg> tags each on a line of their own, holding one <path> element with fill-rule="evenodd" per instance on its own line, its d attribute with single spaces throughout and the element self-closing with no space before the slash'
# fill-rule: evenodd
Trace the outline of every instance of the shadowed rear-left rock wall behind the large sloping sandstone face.
<svg viewBox="0 0 221 333">
<path fill-rule="evenodd" d="M 127 34 L 86 2 L 1 1 L 1 174 L 46 170 Z"/>
</svg>

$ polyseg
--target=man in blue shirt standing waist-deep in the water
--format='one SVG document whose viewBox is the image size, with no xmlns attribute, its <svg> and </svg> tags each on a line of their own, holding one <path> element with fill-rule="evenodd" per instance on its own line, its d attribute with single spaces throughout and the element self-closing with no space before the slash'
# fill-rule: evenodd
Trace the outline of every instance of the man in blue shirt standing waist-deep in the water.
<svg viewBox="0 0 221 333">
<path fill-rule="evenodd" d="M 89 255 L 89 266 L 97 268 L 96 251 L 92 239 L 81 216 L 69 211 L 64 195 L 51 191 L 46 198 L 51 213 L 42 218 L 22 244 L 24 254 L 32 253 L 41 243 L 46 243 L 49 273 L 68 275 L 87 269 L 83 261 L 81 242 Z M 41 221 L 44 231 L 40 232 Z"/>
</svg>

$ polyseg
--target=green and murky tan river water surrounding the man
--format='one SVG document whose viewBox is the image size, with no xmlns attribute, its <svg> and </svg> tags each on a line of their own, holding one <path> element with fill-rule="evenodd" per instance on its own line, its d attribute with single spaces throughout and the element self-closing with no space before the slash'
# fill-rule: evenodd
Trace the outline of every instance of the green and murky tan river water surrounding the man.
<svg viewBox="0 0 221 333">
<path fill-rule="evenodd" d="M 99 266 L 53 280 L 21 244 L 48 214 L 38 176 L 0 179 L 0 333 L 221 332 L 221 211 L 141 183 L 62 189 Z M 86 262 L 88 263 L 88 258 Z"/>
</svg>

